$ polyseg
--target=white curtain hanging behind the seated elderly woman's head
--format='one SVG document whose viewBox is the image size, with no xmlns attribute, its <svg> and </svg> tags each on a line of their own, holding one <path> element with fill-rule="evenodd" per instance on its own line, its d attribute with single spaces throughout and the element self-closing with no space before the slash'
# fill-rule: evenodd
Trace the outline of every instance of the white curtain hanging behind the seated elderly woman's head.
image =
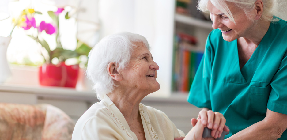
<svg viewBox="0 0 287 140">
<path fill-rule="evenodd" d="M 117 32 L 138 33 L 148 40 L 160 66 L 155 96 L 171 93 L 174 0 L 100 0 L 100 39 Z"/>
</svg>

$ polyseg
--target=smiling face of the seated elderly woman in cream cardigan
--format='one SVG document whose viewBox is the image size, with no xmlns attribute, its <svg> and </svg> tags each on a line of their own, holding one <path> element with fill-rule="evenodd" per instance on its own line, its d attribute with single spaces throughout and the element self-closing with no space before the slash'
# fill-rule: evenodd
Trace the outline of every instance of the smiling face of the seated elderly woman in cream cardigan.
<svg viewBox="0 0 287 140">
<path fill-rule="evenodd" d="M 149 93 L 160 88 L 157 82 L 157 70 L 159 66 L 153 61 L 150 51 L 143 43 L 134 43 L 134 52 L 129 65 L 121 70 L 125 86 L 130 89 L 140 89 Z"/>
</svg>

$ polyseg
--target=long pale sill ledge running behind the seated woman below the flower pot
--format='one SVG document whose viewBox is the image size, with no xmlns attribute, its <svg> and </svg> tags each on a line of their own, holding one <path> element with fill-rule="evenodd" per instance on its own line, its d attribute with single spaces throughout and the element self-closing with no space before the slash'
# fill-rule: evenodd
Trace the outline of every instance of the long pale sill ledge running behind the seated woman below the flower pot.
<svg viewBox="0 0 287 140">
<path fill-rule="evenodd" d="M 36 94 L 41 99 L 98 101 L 92 91 L 81 91 L 66 87 L 0 84 L 0 92 Z M 143 101 L 187 103 L 187 94 L 172 94 L 169 97 L 154 97 L 152 94 L 145 97 Z"/>
</svg>

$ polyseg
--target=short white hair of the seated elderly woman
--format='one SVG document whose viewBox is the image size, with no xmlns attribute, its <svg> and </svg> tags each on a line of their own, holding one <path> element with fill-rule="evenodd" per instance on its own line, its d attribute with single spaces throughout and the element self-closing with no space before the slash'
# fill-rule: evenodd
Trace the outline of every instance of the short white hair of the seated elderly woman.
<svg viewBox="0 0 287 140">
<path fill-rule="evenodd" d="M 119 69 L 124 69 L 130 62 L 133 48 L 137 47 L 134 44 L 136 42 L 142 42 L 149 50 L 145 37 L 130 32 L 120 32 L 104 37 L 89 52 L 86 74 L 93 81 L 92 88 L 99 100 L 117 86 L 108 74 L 108 64 L 115 62 Z"/>
</svg>

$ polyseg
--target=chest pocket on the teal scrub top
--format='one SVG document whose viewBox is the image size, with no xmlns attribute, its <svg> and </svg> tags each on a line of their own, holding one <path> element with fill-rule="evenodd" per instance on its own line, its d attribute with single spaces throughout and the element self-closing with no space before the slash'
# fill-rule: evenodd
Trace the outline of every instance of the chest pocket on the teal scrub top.
<svg viewBox="0 0 287 140">
<path fill-rule="evenodd" d="M 267 102 L 269 99 L 270 91 L 270 85 L 264 88 L 251 86 L 250 99 L 251 107 L 254 111 L 258 112 L 259 114 L 266 114 Z"/>
</svg>

